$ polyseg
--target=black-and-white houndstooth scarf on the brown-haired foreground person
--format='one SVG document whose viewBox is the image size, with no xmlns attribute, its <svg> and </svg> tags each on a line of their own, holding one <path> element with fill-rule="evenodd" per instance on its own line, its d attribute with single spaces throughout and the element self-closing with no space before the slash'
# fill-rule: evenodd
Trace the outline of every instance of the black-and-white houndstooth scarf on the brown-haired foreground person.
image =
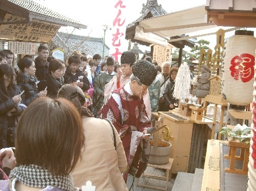
<svg viewBox="0 0 256 191">
<path fill-rule="evenodd" d="M 9 178 L 17 178 L 22 184 L 35 188 L 53 186 L 63 190 L 77 190 L 73 187 L 73 179 L 71 175 L 53 176 L 48 170 L 33 164 L 15 167 L 11 171 Z"/>
</svg>

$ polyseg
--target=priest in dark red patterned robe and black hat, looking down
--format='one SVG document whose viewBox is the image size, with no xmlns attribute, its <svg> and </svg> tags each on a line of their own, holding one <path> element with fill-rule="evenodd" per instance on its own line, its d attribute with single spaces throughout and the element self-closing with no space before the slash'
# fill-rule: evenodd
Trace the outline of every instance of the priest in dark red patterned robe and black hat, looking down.
<svg viewBox="0 0 256 191">
<path fill-rule="evenodd" d="M 108 118 L 120 134 L 128 163 L 124 181 L 128 173 L 140 177 L 147 166 L 150 142 L 145 134 L 151 124 L 143 96 L 157 75 L 155 66 L 146 60 L 135 62 L 132 71 L 130 82 L 113 91 L 98 113 L 98 117 Z"/>
</svg>

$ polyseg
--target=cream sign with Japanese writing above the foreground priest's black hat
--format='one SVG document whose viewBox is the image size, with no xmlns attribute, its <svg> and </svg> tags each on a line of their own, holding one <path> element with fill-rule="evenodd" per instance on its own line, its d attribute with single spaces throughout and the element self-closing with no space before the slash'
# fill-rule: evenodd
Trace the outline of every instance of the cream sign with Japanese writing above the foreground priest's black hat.
<svg viewBox="0 0 256 191">
<path fill-rule="evenodd" d="M 163 62 L 171 61 L 172 46 L 168 44 L 167 47 L 153 45 L 153 62 L 157 62 L 162 66 Z"/>
</svg>

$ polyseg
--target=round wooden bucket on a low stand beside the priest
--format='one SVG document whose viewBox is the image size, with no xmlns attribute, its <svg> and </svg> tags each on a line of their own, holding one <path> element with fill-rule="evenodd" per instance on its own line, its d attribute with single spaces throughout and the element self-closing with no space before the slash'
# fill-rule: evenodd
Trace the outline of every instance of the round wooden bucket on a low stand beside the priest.
<svg viewBox="0 0 256 191">
<path fill-rule="evenodd" d="M 158 141 L 157 147 L 153 147 L 153 140 L 150 140 L 149 164 L 164 165 L 169 162 L 170 147 L 167 141 Z"/>
</svg>

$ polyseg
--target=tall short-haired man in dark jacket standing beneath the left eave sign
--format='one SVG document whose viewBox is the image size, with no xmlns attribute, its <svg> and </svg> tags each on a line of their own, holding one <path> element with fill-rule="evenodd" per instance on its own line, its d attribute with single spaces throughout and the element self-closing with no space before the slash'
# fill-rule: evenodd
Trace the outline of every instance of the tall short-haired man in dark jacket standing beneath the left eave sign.
<svg viewBox="0 0 256 191">
<path fill-rule="evenodd" d="M 45 74 L 48 73 L 49 62 L 47 58 L 49 56 L 49 49 L 45 45 L 40 45 L 37 49 L 38 57 L 35 59 L 36 77 L 41 81 L 44 79 Z"/>
</svg>

